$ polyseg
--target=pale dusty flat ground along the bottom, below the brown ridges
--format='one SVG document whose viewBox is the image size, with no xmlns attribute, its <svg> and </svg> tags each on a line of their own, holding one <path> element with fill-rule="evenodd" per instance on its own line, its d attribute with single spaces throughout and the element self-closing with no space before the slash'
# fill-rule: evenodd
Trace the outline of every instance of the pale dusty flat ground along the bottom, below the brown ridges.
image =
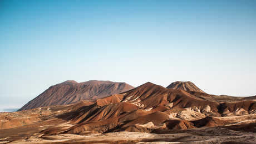
<svg viewBox="0 0 256 144">
<path fill-rule="evenodd" d="M 12 142 L 1 138 L 0 143 L 256 143 L 256 133 L 230 130 L 223 127 L 192 128 L 165 131 L 165 134 L 145 132 L 110 132 L 92 135 L 61 134 L 17 138 Z"/>
</svg>

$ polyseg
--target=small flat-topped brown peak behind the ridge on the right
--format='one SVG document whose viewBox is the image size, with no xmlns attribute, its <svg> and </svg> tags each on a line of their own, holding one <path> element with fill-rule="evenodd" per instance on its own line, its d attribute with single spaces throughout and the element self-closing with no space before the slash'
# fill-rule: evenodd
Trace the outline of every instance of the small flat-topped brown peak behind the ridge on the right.
<svg viewBox="0 0 256 144">
<path fill-rule="evenodd" d="M 191 81 L 176 81 L 171 83 L 166 89 L 178 89 L 178 90 L 185 90 L 185 91 L 195 91 L 205 93 L 203 90 L 199 89 L 195 84 Z"/>
</svg>

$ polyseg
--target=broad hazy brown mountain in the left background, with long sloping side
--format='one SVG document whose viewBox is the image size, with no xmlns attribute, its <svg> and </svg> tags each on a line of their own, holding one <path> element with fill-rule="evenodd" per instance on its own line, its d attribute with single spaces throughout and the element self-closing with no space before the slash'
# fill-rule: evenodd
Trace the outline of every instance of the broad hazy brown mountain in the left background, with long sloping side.
<svg viewBox="0 0 256 144">
<path fill-rule="evenodd" d="M 82 100 L 96 100 L 133 88 L 129 84 L 112 81 L 90 80 L 77 83 L 74 80 L 67 80 L 61 84 L 50 86 L 50 88 L 29 101 L 18 111 L 42 106 L 67 105 Z"/>
</svg>

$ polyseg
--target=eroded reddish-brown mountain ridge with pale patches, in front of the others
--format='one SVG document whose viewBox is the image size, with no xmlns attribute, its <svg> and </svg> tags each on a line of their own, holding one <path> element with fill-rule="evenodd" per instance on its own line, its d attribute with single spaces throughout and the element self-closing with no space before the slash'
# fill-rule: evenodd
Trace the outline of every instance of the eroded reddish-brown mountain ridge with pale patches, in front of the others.
<svg viewBox="0 0 256 144">
<path fill-rule="evenodd" d="M 211 96 L 211 95 L 205 95 Z M 106 133 L 119 131 L 152 132 L 216 127 L 256 117 L 256 101 L 217 102 L 188 91 L 166 89 L 150 82 L 120 94 L 98 99 L 67 115 L 72 126 L 47 128 L 45 135 Z M 212 100 L 212 101 L 211 101 Z M 229 114 L 227 115 L 227 111 Z M 234 120 L 221 116 L 248 115 Z M 62 119 L 65 116 L 61 116 Z M 250 118 L 249 118 L 250 117 Z"/>
</svg>

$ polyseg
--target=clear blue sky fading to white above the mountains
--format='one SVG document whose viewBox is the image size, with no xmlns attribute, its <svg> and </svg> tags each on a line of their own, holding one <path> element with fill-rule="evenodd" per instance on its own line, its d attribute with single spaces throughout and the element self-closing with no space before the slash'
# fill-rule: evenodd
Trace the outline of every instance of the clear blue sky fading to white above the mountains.
<svg viewBox="0 0 256 144">
<path fill-rule="evenodd" d="M 256 1 L 2 0 L 0 75 L 7 108 L 65 80 L 253 96 Z"/>
</svg>

